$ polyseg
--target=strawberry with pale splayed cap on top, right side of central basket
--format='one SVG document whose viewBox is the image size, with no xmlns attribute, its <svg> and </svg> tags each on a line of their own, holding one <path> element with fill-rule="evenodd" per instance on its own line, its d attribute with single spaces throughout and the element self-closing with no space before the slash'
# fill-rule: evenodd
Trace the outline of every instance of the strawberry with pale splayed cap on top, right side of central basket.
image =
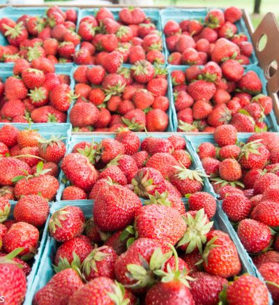
<svg viewBox="0 0 279 305">
<path fill-rule="evenodd" d="M 185 167 L 175 166 L 175 169 L 169 177 L 169 181 L 184 196 L 188 193 L 202 191 L 202 177 L 205 174 L 200 170 L 188 170 Z"/>
</svg>

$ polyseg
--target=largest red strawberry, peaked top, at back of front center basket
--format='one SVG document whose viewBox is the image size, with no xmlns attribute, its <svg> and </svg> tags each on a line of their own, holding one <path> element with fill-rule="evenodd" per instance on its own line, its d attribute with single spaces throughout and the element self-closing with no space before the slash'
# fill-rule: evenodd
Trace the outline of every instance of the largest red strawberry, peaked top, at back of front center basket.
<svg viewBox="0 0 279 305">
<path fill-rule="evenodd" d="M 104 232 L 121 230 L 133 221 L 135 213 L 141 205 L 137 195 L 128 188 L 117 185 L 107 186 L 106 191 L 98 193 L 95 200 L 94 221 Z"/>
</svg>

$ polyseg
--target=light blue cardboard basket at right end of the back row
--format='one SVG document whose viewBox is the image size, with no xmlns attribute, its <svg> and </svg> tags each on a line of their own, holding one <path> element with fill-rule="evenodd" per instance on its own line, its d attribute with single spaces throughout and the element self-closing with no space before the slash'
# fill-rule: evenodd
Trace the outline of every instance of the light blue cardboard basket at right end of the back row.
<svg viewBox="0 0 279 305">
<path fill-rule="evenodd" d="M 162 27 L 164 29 L 165 24 L 168 20 L 175 20 L 176 22 L 181 22 L 183 20 L 202 20 L 206 17 L 206 14 L 212 8 L 165 8 L 160 10 Z M 223 9 L 224 10 L 224 9 Z M 237 33 L 243 33 L 248 37 L 248 41 L 252 43 L 250 34 L 246 27 L 245 21 L 243 18 L 235 23 L 237 27 Z M 165 47 L 165 52 L 167 57 L 169 57 L 169 50 L 167 50 L 167 44 L 165 41 L 165 35 L 163 36 L 163 43 Z M 255 55 L 255 50 L 253 50 L 252 55 L 250 56 L 250 64 L 257 65 L 257 57 Z"/>
</svg>

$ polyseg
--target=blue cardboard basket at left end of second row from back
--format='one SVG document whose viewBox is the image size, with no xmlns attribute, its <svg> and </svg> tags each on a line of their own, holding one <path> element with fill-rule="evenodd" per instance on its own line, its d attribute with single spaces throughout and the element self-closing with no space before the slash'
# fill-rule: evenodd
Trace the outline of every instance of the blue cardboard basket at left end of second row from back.
<svg viewBox="0 0 279 305">
<path fill-rule="evenodd" d="M 0 77 L 1 77 L 1 81 L 3 83 L 5 83 L 6 78 L 8 78 L 8 77 L 13 75 L 13 66 L 14 66 L 13 63 L 0 64 Z M 68 77 L 70 77 L 70 84 L 69 84 L 69 86 L 70 86 L 71 90 L 73 90 L 74 87 L 75 87 L 73 77 L 71 76 L 72 68 L 73 68 L 73 66 L 71 66 L 71 65 L 62 65 L 62 64 L 59 64 L 59 65 L 55 66 L 55 73 L 56 74 L 68 75 Z M 68 110 L 68 112 L 67 112 L 67 117 L 68 117 L 69 113 L 70 113 L 70 110 Z M 17 123 L 5 123 L 5 124 L 13 124 L 13 125 L 17 126 L 16 125 Z M 66 124 L 65 126 L 67 126 L 67 128 L 71 128 L 70 124 L 67 124 L 67 123 L 36 123 L 36 128 L 37 128 L 37 126 L 39 126 L 43 132 L 45 132 L 45 131 L 47 132 L 49 130 L 48 126 L 54 125 L 54 128 L 51 128 L 50 130 L 52 132 L 53 131 L 55 132 L 56 131 L 55 126 L 59 126 L 61 124 L 62 125 Z M 22 124 L 20 124 L 20 126 L 21 125 L 24 126 L 24 128 L 27 128 L 27 126 L 28 126 L 27 123 L 22 123 Z M 59 129 L 58 129 L 58 131 L 59 131 Z M 70 135 L 70 133 L 69 133 L 69 135 Z M 69 139 L 70 139 L 70 137 L 69 137 Z"/>
</svg>

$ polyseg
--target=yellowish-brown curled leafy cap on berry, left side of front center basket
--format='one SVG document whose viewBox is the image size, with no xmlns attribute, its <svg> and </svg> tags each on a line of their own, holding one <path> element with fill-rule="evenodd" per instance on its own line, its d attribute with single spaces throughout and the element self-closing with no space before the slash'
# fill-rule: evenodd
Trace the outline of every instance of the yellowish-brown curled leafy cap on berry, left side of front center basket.
<svg viewBox="0 0 279 305">
<path fill-rule="evenodd" d="M 105 260 L 105 258 L 111 256 L 111 253 L 104 253 L 103 251 L 107 249 L 108 246 L 101 246 L 98 248 L 97 245 L 95 245 L 95 248 L 91 251 L 91 253 L 87 256 L 87 258 L 82 262 L 82 272 L 89 276 L 91 273 L 91 270 L 97 272 L 98 268 L 96 265 L 96 262 L 101 262 L 102 260 Z"/>
</svg>

